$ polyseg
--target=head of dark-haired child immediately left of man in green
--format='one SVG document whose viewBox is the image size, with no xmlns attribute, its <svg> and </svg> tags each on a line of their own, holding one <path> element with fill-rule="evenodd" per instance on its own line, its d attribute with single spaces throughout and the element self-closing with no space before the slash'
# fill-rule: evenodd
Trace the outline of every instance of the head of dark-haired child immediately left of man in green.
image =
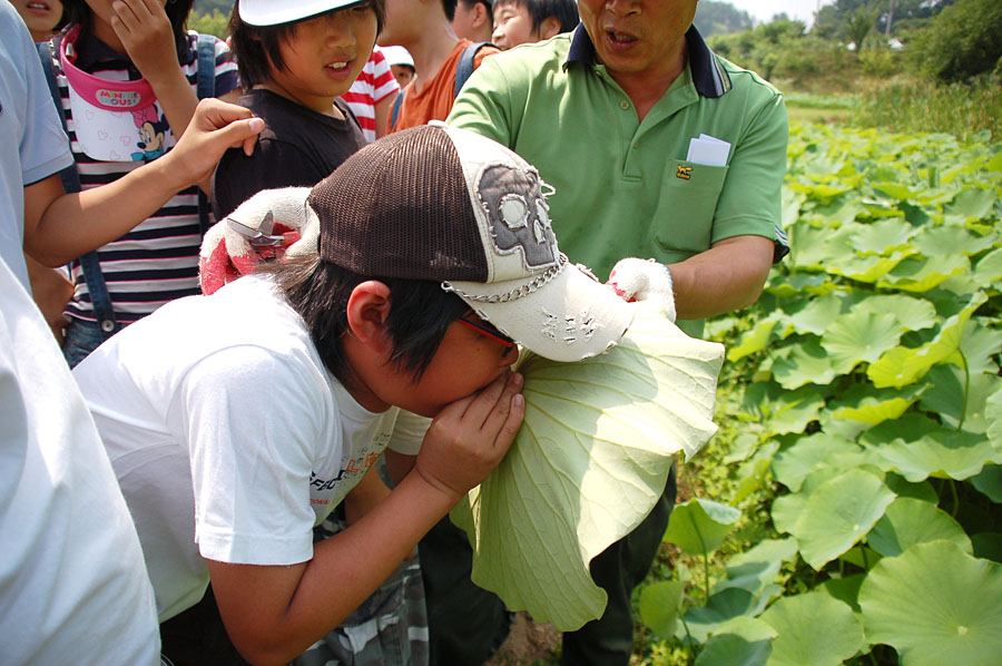
<svg viewBox="0 0 1002 666">
<path fill-rule="evenodd" d="M 570 32 L 578 20 L 574 0 L 494 0 L 491 41 L 499 49 L 508 50 Z"/>
</svg>

